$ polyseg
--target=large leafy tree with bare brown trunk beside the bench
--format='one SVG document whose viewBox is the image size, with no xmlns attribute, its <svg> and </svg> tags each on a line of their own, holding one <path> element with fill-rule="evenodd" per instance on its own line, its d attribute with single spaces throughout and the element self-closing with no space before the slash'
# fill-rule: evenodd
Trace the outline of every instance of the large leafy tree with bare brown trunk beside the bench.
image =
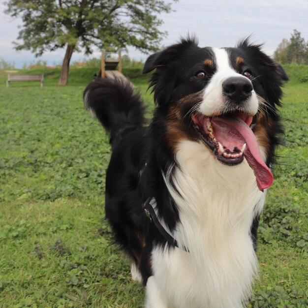
<svg viewBox="0 0 308 308">
<path fill-rule="evenodd" d="M 176 0 L 174 0 L 176 1 Z M 8 0 L 7 14 L 21 16 L 22 30 L 16 50 L 35 56 L 66 48 L 59 85 L 68 81 L 74 51 L 92 53 L 92 46 L 117 50 L 133 46 L 155 51 L 166 34 L 158 30 L 161 12 L 170 12 L 164 0 Z"/>
</svg>

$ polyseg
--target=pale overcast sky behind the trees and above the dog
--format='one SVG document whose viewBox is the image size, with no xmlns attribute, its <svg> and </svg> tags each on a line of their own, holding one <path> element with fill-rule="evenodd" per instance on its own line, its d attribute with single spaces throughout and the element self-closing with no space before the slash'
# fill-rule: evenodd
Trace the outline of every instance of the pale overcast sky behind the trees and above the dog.
<svg viewBox="0 0 308 308">
<path fill-rule="evenodd" d="M 172 3 L 172 8 L 173 12 L 160 15 L 164 21 L 160 30 L 168 32 L 161 41 L 163 46 L 178 41 L 188 32 L 196 34 L 202 47 L 232 47 L 252 34 L 253 41 L 265 43 L 268 54 L 273 54 L 283 38 L 289 39 L 294 29 L 308 41 L 308 0 L 179 0 Z M 5 15 L 4 9 L 1 1 L 0 58 L 15 63 L 16 67 L 38 59 L 50 65 L 62 63 L 64 50 L 46 52 L 38 59 L 28 51 L 14 51 L 12 41 L 16 40 L 22 21 Z M 99 57 L 99 54 L 94 49 L 93 55 Z M 128 49 L 128 54 L 136 60 L 147 58 L 133 48 Z M 83 54 L 73 54 L 72 61 L 83 59 Z"/>
</svg>

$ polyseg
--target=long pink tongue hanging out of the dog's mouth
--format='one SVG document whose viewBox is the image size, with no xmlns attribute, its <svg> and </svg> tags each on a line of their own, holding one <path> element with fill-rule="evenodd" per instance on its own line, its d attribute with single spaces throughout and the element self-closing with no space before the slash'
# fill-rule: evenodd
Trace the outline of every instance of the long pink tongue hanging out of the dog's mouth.
<svg viewBox="0 0 308 308">
<path fill-rule="evenodd" d="M 252 168 L 260 190 L 273 183 L 273 175 L 261 158 L 257 140 L 250 127 L 239 118 L 214 117 L 211 120 L 216 139 L 230 151 L 246 143 L 244 156 Z M 233 147 L 233 148 L 232 148 Z"/>
</svg>

